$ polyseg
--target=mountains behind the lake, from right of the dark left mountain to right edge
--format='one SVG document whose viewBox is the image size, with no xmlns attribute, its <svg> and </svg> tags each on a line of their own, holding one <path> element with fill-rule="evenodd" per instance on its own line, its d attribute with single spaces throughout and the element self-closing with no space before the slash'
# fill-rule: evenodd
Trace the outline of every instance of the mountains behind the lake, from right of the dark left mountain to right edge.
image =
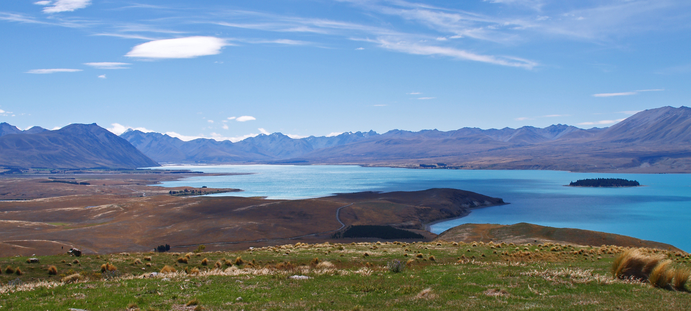
<svg viewBox="0 0 691 311">
<path fill-rule="evenodd" d="M 181 141 L 159 133 L 121 135 L 152 159 L 179 163 L 345 163 L 419 167 L 691 172 L 691 108 L 645 110 L 611 128 L 557 124 L 482 130 L 346 132 L 291 139 L 260 134 L 237 143 Z"/>
</svg>

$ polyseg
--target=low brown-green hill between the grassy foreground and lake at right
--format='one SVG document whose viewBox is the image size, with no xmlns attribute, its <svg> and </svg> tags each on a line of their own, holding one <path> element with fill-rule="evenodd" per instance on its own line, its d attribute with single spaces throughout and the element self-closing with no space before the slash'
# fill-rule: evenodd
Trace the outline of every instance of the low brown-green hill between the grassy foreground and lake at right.
<svg viewBox="0 0 691 311">
<path fill-rule="evenodd" d="M 532 223 L 516 223 L 514 225 L 496 225 L 491 223 L 466 223 L 457 225 L 440 233 L 435 240 L 457 242 L 484 242 L 489 243 L 560 243 L 576 245 L 617 245 L 631 248 L 657 248 L 659 250 L 672 250 L 681 252 L 679 248 L 670 244 L 636 239 L 621 234 L 605 233 L 599 231 L 553 228 Z"/>
</svg>

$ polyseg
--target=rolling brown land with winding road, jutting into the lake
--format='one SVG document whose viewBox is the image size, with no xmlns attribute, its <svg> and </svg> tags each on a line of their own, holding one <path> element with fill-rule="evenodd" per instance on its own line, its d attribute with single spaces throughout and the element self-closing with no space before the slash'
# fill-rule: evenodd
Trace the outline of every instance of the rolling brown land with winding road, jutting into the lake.
<svg viewBox="0 0 691 311">
<path fill-rule="evenodd" d="M 432 239 L 435 234 L 424 230 L 426 222 L 503 203 L 454 189 L 361 192 L 303 200 L 75 194 L 0 201 L 0 257 L 55 254 L 73 247 L 87 253 L 112 253 L 149 251 L 165 243 L 173 248 L 206 244 L 207 249 L 221 250 L 295 237 L 323 241 L 344 225 L 354 224 L 396 225 Z M 343 224 L 337 219 L 339 208 Z M 302 237 L 306 235 L 310 236 Z M 242 241 L 254 242 L 227 243 Z"/>
</svg>

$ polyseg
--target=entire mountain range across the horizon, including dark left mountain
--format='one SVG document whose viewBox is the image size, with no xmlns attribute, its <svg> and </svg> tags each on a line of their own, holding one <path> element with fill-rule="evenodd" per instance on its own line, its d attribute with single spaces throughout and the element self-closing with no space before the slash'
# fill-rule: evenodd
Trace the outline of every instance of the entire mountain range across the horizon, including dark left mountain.
<svg viewBox="0 0 691 311">
<path fill-rule="evenodd" d="M 95 132 L 100 133 L 100 138 L 95 138 L 98 136 L 94 136 Z M 644 110 L 609 128 L 587 130 L 557 124 L 547 128 L 460 128 L 447 132 L 390 130 L 378 134 L 370 130 L 301 139 L 277 132 L 233 143 L 214 139 L 182 141 L 167 134 L 131 129 L 115 137 L 95 124 L 73 124 L 53 131 L 38 127 L 21 131 L 0 123 L 0 135 L 0 165 L 6 166 L 342 163 L 406 168 L 691 172 L 691 108 L 684 106 Z M 82 148 L 83 152 L 59 157 L 65 150 L 61 153 L 50 151 L 56 146 L 46 148 L 50 143 L 55 144 L 55 140 L 46 140 L 53 135 L 63 139 L 61 146 L 68 146 L 68 137 L 72 137 L 73 143 L 79 146 L 67 149 Z M 24 151 L 29 149 L 28 153 Z"/>
</svg>

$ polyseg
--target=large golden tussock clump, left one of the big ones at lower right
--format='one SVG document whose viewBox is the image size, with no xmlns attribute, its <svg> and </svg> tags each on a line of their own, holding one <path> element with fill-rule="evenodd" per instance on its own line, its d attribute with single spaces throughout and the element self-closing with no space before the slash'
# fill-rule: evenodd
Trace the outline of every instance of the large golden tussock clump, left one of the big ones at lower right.
<svg viewBox="0 0 691 311">
<path fill-rule="evenodd" d="M 647 281 L 653 268 L 663 261 L 663 255 L 647 256 L 641 250 L 629 249 L 612 262 L 612 276 L 618 279 Z"/>
</svg>

